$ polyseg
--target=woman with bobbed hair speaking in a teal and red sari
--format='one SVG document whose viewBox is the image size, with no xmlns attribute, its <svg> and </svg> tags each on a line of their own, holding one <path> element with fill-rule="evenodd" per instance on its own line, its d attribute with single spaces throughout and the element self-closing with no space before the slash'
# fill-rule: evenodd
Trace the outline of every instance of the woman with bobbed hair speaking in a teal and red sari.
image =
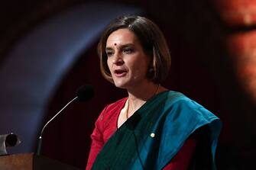
<svg viewBox="0 0 256 170">
<path fill-rule="evenodd" d="M 215 168 L 219 118 L 160 85 L 170 52 L 156 24 L 140 16 L 116 18 L 98 53 L 102 75 L 128 97 L 106 106 L 96 120 L 86 169 Z"/>
</svg>

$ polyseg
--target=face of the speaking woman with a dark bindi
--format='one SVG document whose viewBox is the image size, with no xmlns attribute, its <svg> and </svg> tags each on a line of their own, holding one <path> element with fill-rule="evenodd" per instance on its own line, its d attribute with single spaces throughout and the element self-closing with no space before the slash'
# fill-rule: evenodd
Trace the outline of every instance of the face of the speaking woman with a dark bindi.
<svg viewBox="0 0 256 170">
<path fill-rule="evenodd" d="M 115 86 L 134 88 L 146 85 L 149 57 L 131 30 L 119 29 L 109 35 L 105 52 Z"/>
</svg>

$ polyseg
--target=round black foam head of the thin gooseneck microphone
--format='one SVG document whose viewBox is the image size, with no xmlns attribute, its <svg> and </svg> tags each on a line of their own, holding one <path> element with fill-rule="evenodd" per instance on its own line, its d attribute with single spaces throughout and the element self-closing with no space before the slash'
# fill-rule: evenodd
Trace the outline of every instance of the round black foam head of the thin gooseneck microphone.
<svg viewBox="0 0 256 170">
<path fill-rule="evenodd" d="M 76 91 L 78 101 L 89 101 L 94 96 L 94 91 L 91 85 L 82 85 Z"/>
</svg>

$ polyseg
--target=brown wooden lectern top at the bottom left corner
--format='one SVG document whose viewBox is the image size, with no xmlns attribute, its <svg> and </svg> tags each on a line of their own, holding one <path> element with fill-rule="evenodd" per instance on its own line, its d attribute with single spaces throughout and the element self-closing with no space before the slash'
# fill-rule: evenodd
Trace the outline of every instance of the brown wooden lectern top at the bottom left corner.
<svg viewBox="0 0 256 170">
<path fill-rule="evenodd" d="M 79 170 L 34 153 L 23 153 L 9 156 L 0 156 L 1 170 Z"/>
</svg>

